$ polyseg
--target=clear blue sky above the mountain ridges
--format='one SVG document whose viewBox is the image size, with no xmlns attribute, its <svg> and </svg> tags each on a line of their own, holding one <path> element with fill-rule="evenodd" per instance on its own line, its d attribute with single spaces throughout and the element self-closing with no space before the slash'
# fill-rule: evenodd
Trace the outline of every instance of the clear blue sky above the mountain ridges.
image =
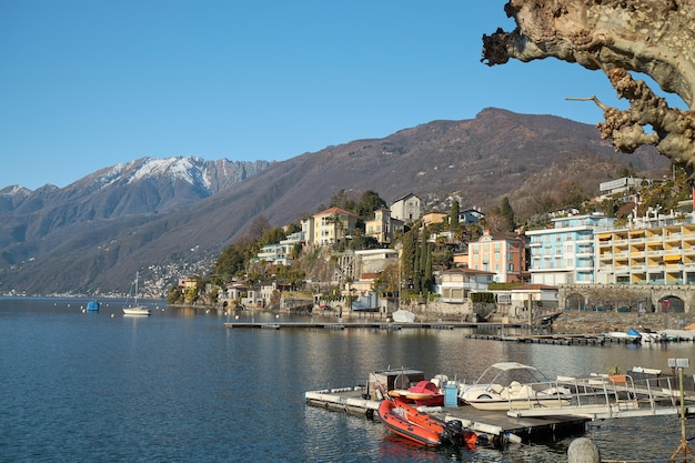
<svg viewBox="0 0 695 463">
<path fill-rule="evenodd" d="M 602 119 L 601 72 L 480 62 L 506 0 L 4 0 L 0 189 L 142 157 L 284 160 L 487 107 Z"/>
</svg>

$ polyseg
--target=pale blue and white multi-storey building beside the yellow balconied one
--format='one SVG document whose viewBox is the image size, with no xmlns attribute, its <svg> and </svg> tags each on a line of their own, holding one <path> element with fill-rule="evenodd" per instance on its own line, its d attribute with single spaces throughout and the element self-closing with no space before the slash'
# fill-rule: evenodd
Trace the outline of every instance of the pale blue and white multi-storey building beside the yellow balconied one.
<svg viewBox="0 0 695 463">
<path fill-rule="evenodd" d="M 595 232 L 613 229 L 614 218 L 602 212 L 568 215 L 551 220 L 552 228 L 528 230 L 531 283 L 560 284 L 595 283 Z"/>
</svg>

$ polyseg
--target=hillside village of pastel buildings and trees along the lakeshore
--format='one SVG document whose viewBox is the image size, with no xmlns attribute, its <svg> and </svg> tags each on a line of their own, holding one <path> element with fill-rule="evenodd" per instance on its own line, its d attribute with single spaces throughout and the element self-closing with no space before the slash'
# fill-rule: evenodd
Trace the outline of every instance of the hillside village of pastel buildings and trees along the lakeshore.
<svg viewBox="0 0 695 463">
<path fill-rule="evenodd" d="M 352 208 L 331 205 L 282 229 L 252 223 L 263 240 L 231 245 L 208 279 L 182 279 L 168 300 L 336 316 L 406 308 L 423 320 L 461 321 L 566 309 L 688 312 L 695 301 L 675 291 L 695 283 L 686 184 L 675 173 L 625 177 L 521 225 L 506 198 L 487 215 L 461 210 L 455 198 L 449 211 L 426 212 L 415 194 L 389 207 L 371 191 L 366 207 L 338 198 Z"/>
</svg>

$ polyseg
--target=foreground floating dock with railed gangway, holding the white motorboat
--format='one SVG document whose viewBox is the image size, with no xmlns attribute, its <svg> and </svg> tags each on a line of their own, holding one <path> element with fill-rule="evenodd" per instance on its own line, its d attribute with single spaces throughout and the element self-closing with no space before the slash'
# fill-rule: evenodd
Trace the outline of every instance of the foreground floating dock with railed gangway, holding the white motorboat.
<svg viewBox="0 0 695 463">
<path fill-rule="evenodd" d="M 306 404 L 331 411 L 361 414 L 370 420 L 379 417 L 380 397 L 376 390 L 399 389 L 402 379 L 419 380 L 422 372 L 413 370 L 372 373 L 366 386 L 328 389 L 304 393 Z M 455 400 L 446 406 L 420 410 L 444 421 L 459 420 L 470 431 L 495 445 L 508 442 L 546 441 L 572 433 L 583 433 L 588 421 L 629 419 L 636 416 L 695 415 L 695 394 L 678 391 L 674 379 L 661 371 L 635 368 L 618 376 L 593 374 L 586 378 L 558 376 L 556 385 L 571 392 L 567 405 L 521 406 L 518 410 L 484 411 Z M 375 387 L 376 386 L 376 387 Z M 683 405 L 681 404 L 683 397 Z M 456 397 L 454 397 L 456 399 Z M 385 399 L 387 400 L 387 399 Z M 530 397 L 533 401 L 533 397 Z M 562 403 L 562 401 L 560 401 Z"/>
</svg>

